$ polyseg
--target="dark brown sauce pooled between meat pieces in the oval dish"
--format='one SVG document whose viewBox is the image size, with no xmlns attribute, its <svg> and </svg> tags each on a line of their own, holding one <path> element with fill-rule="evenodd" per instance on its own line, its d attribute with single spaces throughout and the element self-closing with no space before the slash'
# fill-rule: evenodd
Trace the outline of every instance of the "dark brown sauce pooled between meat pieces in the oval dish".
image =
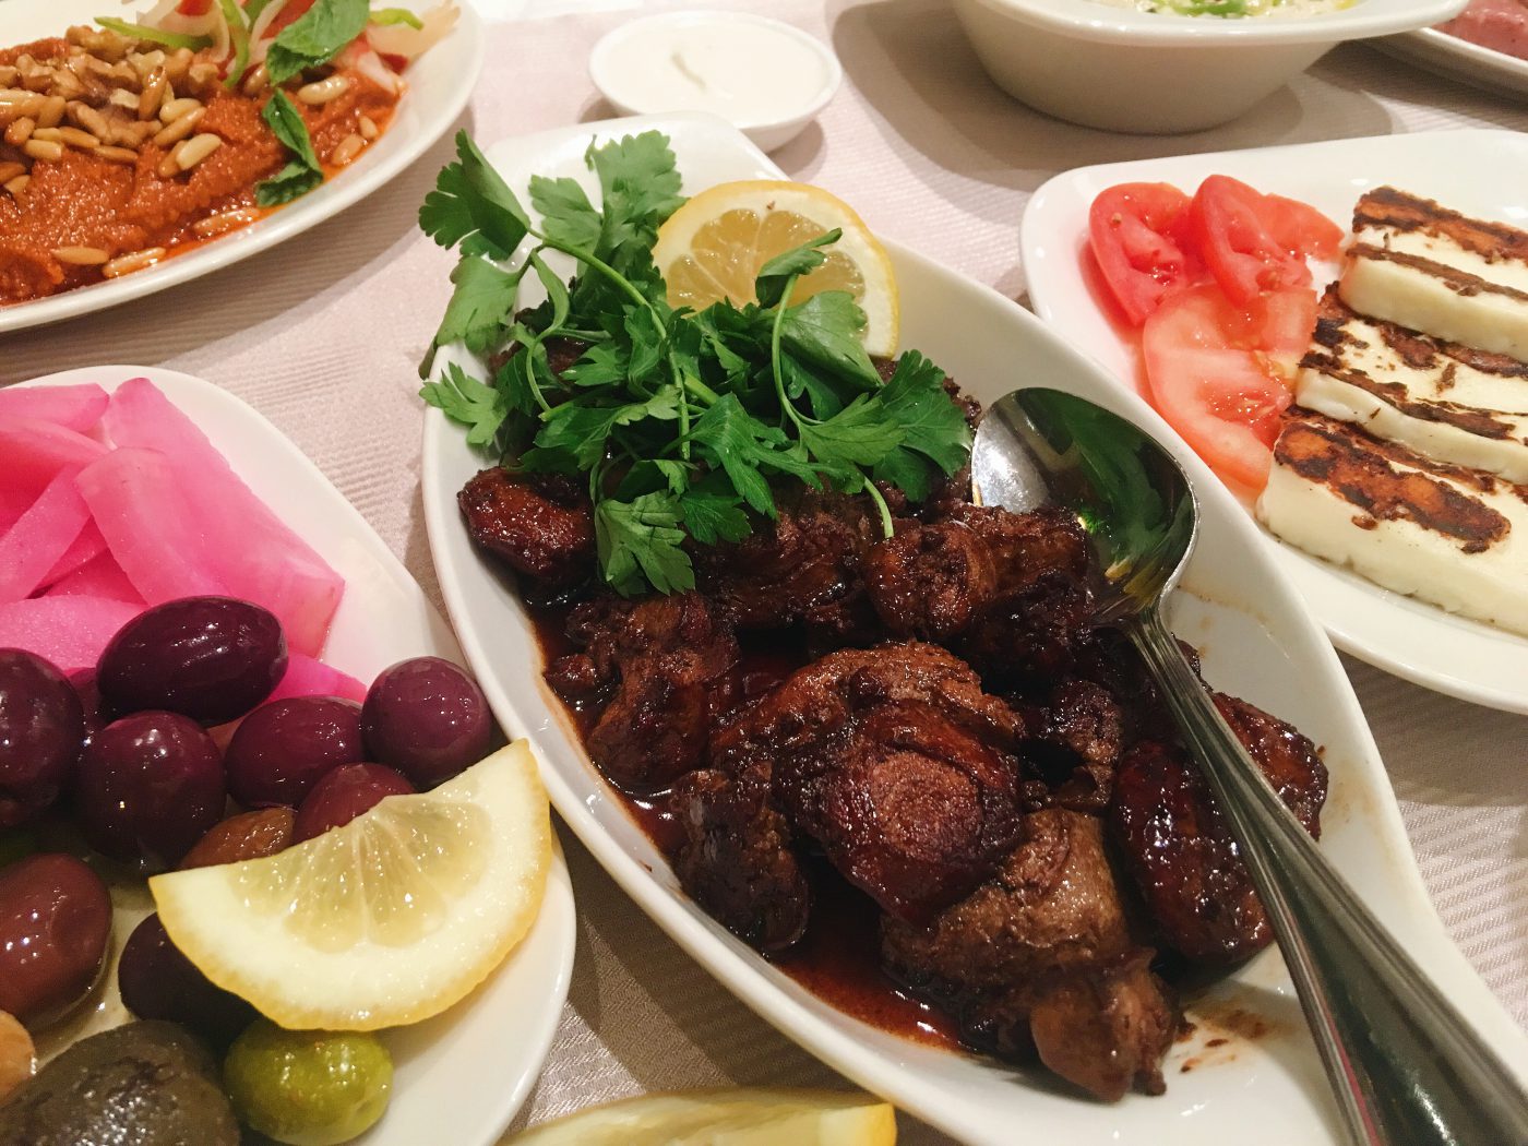
<svg viewBox="0 0 1528 1146">
<path fill-rule="evenodd" d="M 526 610 L 536 630 L 544 663 L 575 651 L 567 637 L 568 605 L 538 604 Z M 744 703 L 782 681 L 807 663 L 805 645 L 792 637 L 741 637 L 741 680 Z M 587 738 L 599 709 L 562 703 L 581 738 Z M 685 840 L 665 796 L 628 796 L 610 785 L 626 814 L 669 859 Z M 776 967 L 822 1001 L 862 1022 L 914 1042 L 943 1048 L 961 1047 L 955 1024 L 943 1012 L 918 1001 L 886 976 L 879 963 L 879 920 L 876 903 L 853 888 L 825 862 L 813 872 L 814 903 L 811 921 L 801 943 L 784 955 L 770 958 Z"/>
</svg>

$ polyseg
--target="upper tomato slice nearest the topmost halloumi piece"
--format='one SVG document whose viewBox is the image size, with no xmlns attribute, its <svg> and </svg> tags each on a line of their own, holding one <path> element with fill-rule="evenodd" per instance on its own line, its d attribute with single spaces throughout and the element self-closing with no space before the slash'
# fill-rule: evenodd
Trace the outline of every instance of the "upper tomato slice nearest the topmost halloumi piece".
<svg viewBox="0 0 1528 1146">
<path fill-rule="evenodd" d="M 1311 281 L 1305 258 L 1274 234 L 1264 199 L 1239 179 L 1210 176 L 1199 183 L 1189 209 L 1199 255 L 1233 303 L 1251 303 L 1264 290 Z"/>
</svg>

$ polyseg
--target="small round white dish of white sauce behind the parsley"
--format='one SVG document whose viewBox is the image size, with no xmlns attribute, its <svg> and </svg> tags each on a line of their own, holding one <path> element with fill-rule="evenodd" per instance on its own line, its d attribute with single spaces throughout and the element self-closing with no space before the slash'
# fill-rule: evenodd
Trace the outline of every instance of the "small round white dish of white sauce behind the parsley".
<svg viewBox="0 0 1528 1146">
<path fill-rule="evenodd" d="M 709 38 L 714 55 L 675 60 L 680 83 L 660 86 L 665 61 L 659 46 L 677 44 L 675 37 Z M 759 58 L 770 44 L 798 61 L 788 67 L 788 83 L 781 83 L 784 61 L 782 67 L 770 69 Z M 814 61 L 813 75 L 799 66 L 807 60 Z M 735 75 L 729 76 L 729 70 Z M 752 12 L 663 12 L 628 20 L 594 44 L 588 75 L 623 115 L 720 113 L 764 151 L 799 136 L 843 83 L 843 67 L 833 49 L 793 24 Z M 767 99 L 749 96 L 753 79 L 764 81 Z"/>
</svg>

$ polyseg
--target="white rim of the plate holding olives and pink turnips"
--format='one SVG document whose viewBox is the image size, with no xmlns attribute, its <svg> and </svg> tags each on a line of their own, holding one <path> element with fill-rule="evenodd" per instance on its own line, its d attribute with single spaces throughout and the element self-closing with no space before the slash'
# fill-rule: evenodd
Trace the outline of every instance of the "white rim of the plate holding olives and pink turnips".
<svg viewBox="0 0 1528 1146">
<path fill-rule="evenodd" d="M 0 0 L 3 3 L 3 0 Z M 102 376 L 110 376 L 110 380 L 102 382 Z M 435 639 L 445 640 L 435 648 L 431 656 L 446 656 L 458 663 L 466 660 L 461 649 L 460 640 L 455 636 L 455 630 L 451 626 L 449 620 L 440 614 L 434 602 L 425 594 L 423 587 L 414 578 L 413 573 L 399 561 L 397 555 L 388 547 L 382 539 L 382 535 L 376 532 L 365 515 L 354 506 L 350 498 L 341 492 L 330 478 L 319 469 L 318 463 L 313 461 L 303 449 L 296 445 L 286 432 L 281 431 L 270 419 L 267 419 L 260 410 L 234 394 L 223 387 L 211 382 L 197 374 L 189 374 L 182 370 L 174 370 L 170 367 L 141 367 L 141 365 L 125 365 L 125 364 L 110 364 L 110 365 L 92 365 L 92 367 L 73 367 L 69 370 L 58 370 L 50 374 L 40 374 L 37 377 L 26 379 L 23 382 L 14 382 L 8 387 L 24 387 L 24 388 L 46 388 L 46 387 L 63 387 L 63 385 L 79 385 L 79 384 L 95 384 L 102 387 L 108 394 L 113 393 L 119 385 L 133 377 L 147 377 L 156 387 L 160 380 L 168 380 L 171 390 L 189 390 L 196 391 L 200 397 L 222 403 L 225 408 L 232 411 L 237 417 L 244 420 L 252 426 L 258 426 L 260 435 L 269 440 L 281 457 L 277 458 L 284 466 L 295 466 L 303 474 L 304 484 L 316 483 L 322 489 L 324 497 L 335 501 L 336 506 L 342 504 L 342 513 L 348 515 L 350 530 L 347 535 L 362 544 L 367 556 L 377 562 L 388 575 L 388 578 L 403 588 L 406 593 L 417 594 L 419 602 L 428 610 L 426 619 L 435 622 L 439 633 Z M 174 400 L 173 394 L 167 393 L 167 397 Z M 177 410 L 180 406 L 177 405 Z M 188 419 L 196 423 L 196 419 L 182 410 Z M 200 425 L 197 426 L 200 429 Z M 205 432 L 205 431 L 203 431 Z M 237 474 L 237 471 L 235 471 Z M 538 759 L 539 770 L 539 759 Z M 530 1016 L 526 1022 L 526 1028 L 518 1034 L 520 1041 L 530 1048 L 530 1054 L 526 1059 L 526 1068 L 515 1079 L 515 1083 L 501 1091 L 503 1097 L 498 1103 L 492 1103 L 492 1111 L 486 1111 L 487 1122 L 475 1131 L 469 1138 L 461 1140 L 461 1146 L 492 1146 L 504 1128 L 515 1118 L 520 1108 L 524 1105 L 526 1097 L 530 1094 L 530 1088 L 535 1086 L 536 1080 L 545 1068 L 547 1057 L 552 1053 L 552 1042 L 556 1038 L 558 1028 L 562 1019 L 562 1010 L 567 1002 L 568 990 L 573 983 L 573 966 L 575 955 L 578 950 L 578 900 L 573 894 L 573 880 L 568 872 L 567 860 L 562 853 L 562 843 L 558 839 L 556 822 L 553 821 L 552 833 L 553 859 L 547 869 L 547 885 L 542 894 L 541 909 L 536 914 L 536 920 L 532 924 L 532 931 L 527 932 L 509 953 L 509 960 L 524 949 L 524 944 L 530 941 L 536 927 L 547 921 L 552 931 L 552 943 L 555 952 L 555 975 L 549 983 L 550 992 L 544 996 L 549 1004 Z M 490 972 L 490 976 L 498 973 L 498 967 Z M 452 1004 L 454 1007 L 475 1005 L 474 995 L 487 983 L 474 987 L 465 999 Z M 443 1012 L 443 1013 L 449 1013 Z M 526 1016 L 516 1016 L 526 1021 Z M 368 1129 L 358 1143 L 379 1143 L 379 1131 L 385 1129 L 387 1115 L 384 1114 L 382 1122 L 376 1128 Z"/>
</svg>

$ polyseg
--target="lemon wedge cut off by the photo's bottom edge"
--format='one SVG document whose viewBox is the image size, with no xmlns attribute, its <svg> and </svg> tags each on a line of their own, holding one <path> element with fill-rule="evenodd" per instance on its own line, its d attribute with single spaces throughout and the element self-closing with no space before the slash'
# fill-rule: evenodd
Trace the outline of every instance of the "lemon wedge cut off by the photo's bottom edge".
<svg viewBox="0 0 1528 1146">
<path fill-rule="evenodd" d="M 892 1146 L 897 1114 L 868 1094 L 697 1091 L 594 1106 L 509 1146 Z"/>
</svg>

